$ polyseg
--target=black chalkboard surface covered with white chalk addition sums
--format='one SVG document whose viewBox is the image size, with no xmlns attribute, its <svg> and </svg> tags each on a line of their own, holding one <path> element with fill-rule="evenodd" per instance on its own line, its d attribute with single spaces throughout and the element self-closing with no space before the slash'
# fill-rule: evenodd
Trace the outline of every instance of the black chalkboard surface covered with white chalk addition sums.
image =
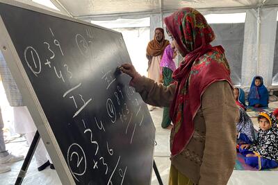
<svg viewBox="0 0 278 185">
<path fill-rule="evenodd" d="M 75 183 L 150 184 L 155 128 L 116 70 L 130 62 L 122 35 L 6 3 L 0 15 Z"/>
</svg>

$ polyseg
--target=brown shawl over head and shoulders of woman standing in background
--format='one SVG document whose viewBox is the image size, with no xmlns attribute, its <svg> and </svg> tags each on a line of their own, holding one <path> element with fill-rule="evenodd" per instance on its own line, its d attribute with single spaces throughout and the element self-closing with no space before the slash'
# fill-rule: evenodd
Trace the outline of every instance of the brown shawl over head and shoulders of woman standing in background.
<svg viewBox="0 0 278 185">
<path fill-rule="evenodd" d="M 147 46 L 147 55 L 149 56 L 162 55 L 165 47 L 170 44 L 169 40 L 165 39 L 163 28 L 156 28 L 156 30 L 161 30 L 161 32 L 163 33 L 163 38 L 161 42 L 158 42 L 156 40 L 156 35 L 154 35 L 154 39 L 152 39 L 152 41 L 150 41 Z"/>
</svg>

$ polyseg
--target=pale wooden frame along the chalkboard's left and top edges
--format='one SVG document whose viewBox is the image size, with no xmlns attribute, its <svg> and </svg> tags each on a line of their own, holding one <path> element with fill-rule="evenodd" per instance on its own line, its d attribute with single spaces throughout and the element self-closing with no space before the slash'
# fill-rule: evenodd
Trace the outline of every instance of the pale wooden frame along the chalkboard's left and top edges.
<svg viewBox="0 0 278 185">
<path fill-rule="evenodd" d="M 33 10 L 36 12 L 41 12 L 46 15 L 51 15 L 54 17 L 58 17 L 60 19 L 66 19 L 69 21 L 74 21 L 76 23 L 81 23 L 85 25 L 92 26 L 93 24 L 89 24 L 88 22 L 81 21 L 78 19 L 74 19 L 72 17 L 67 17 L 65 15 L 58 14 L 56 12 L 51 12 L 49 10 L 44 10 L 42 8 L 38 8 L 35 6 L 29 6 L 24 3 L 19 3 L 17 1 L 7 1 L 7 0 L 0 0 L 0 3 L 6 3 L 11 6 L 16 6 L 19 8 L 24 8 L 27 10 Z M 104 30 L 109 30 L 107 28 L 103 28 L 101 26 L 93 25 L 97 28 L 101 28 Z M 109 30 L 113 31 L 113 30 Z M 113 31 L 118 33 L 116 31 Z M 118 33 L 122 35 L 121 33 Z M 49 122 L 47 121 L 47 117 L 44 114 L 42 106 L 38 100 L 38 97 L 35 94 L 35 91 L 31 85 L 30 80 L 24 70 L 21 60 L 19 59 L 19 55 L 13 45 L 13 42 L 10 38 L 8 30 L 6 29 L 5 24 L 3 23 L 3 19 L 0 17 L 0 50 L 3 53 L 3 56 L 8 64 L 10 72 L 13 74 L 13 78 L 21 92 L 22 96 L 24 97 L 24 105 L 28 107 L 29 112 L 33 118 L 33 121 L 38 128 L 38 132 L 40 132 L 40 136 L 42 141 L 44 142 L 51 159 L 54 161 L 56 171 L 60 178 L 60 181 L 63 184 L 75 184 L 74 178 L 72 177 L 72 173 L 67 166 L 67 162 L 63 157 L 63 154 L 58 146 L 58 142 L 54 136 L 54 133 L 51 130 Z M 150 181 L 151 182 L 151 181 Z"/>
</svg>

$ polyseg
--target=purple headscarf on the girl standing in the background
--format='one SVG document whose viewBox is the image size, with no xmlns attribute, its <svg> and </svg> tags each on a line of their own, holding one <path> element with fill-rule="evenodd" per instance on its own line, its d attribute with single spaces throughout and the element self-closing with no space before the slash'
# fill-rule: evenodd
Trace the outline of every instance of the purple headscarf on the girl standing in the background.
<svg viewBox="0 0 278 185">
<path fill-rule="evenodd" d="M 173 55 L 174 51 L 171 44 L 169 44 L 164 50 L 163 57 L 161 59 L 161 67 L 167 67 L 174 72 L 176 70 L 176 64 L 174 64 Z"/>
</svg>

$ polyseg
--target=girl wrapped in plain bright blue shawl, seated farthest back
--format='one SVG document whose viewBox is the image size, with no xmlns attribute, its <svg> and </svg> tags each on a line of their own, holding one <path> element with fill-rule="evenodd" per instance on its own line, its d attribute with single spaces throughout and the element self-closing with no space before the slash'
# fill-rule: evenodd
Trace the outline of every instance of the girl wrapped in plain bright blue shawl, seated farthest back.
<svg viewBox="0 0 278 185">
<path fill-rule="evenodd" d="M 248 105 L 253 107 L 268 107 L 268 89 L 263 85 L 263 78 L 255 76 L 248 94 Z"/>
</svg>

